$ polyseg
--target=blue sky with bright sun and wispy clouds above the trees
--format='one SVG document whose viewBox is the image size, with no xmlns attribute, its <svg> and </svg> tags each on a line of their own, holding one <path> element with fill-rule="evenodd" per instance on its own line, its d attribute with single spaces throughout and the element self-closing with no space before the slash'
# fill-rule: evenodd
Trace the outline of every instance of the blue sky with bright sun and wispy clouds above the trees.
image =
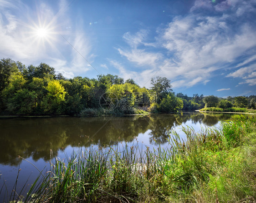
<svg viewBox="0 0 256 203">
<path fill-rule="evenodd" d="M 1 59 L 44 62 L 67 78 L 118 74 L 148 88 L 151 77 L 162 76 L 189 96 L 256 94 L 256 0 L 0 5 Z"/>
</svg>

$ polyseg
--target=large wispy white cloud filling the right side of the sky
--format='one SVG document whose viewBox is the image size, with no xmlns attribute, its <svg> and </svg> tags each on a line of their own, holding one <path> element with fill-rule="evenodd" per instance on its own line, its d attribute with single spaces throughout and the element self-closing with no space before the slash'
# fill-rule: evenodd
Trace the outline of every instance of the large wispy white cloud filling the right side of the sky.
<svg viewBox="0 0 256 203">
<path fill-rule="evenodd" d="M 139 73 L 141 78 L 142 75 L 146 78 L 141 81 L 150 79 L 168 61 L 167 55 L 170 57 L 178 51 L 157 75 L 170 79 L 174 88 L 206 84 L 221 69 L 236 64 L 239 57 L 245 56 L 246 52 L 256 47 L 255 26 L 246 16 L 243 16 L 245 22 L 241 23 L 241 16 L 236 13 L 239 7 L 252 6 L 251 2 L 228 0 L 212 4 L 211 1 L 196 0 L 190 14 L 175 17 L 166 28 L 158 30 L 159 35 L 155 37 L 154 45 L 159 49 L 164 48 L 165 55 L 163 50 L 158 55 L 159 52 L 148 51 L 150 49 L 147 47 L 138 49 L 138 45 L 145 44 L 146 31 L 135 35 L 126 33 L 124 39 L 128 41 L 131 50 L 118 51 L 130 62 L 148 67 L 147 72 L 143 70 Z M 202 8 L 228 12 L 223 15 L 197 13 L 196 10 Z M 250 12 L 255 11 L 252 9 Z M 253 61 L 254 57 L 245 60 L 244 64 Z M 251 67 L 250 71 L 253 70 L 255 69 Z M 228 77 L 239 77 L 241 74 L 246 79 L 254 75 L 249 76 L 248 69 L 241 69 L 228 74 Z"/>
</svg>

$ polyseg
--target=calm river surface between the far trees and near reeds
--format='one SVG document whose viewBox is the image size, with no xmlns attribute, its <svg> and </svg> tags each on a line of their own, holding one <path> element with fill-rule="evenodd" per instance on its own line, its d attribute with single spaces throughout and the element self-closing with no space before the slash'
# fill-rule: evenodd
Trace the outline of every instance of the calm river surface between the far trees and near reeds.
<svg viewBox="0 0 256 203">
<path fill-rule="evenodd" d="M 0 119 L 0 189 L 5 182 L 9 190 L 13 187 L 18 169 L 19 188 L 30 176 L 30 181 L 49 164 L 50 150 L 59 157 L 69 155 L 79 146 L 117 145 L 136 142 L 150 149 L 157 145 L 168 146 L 170 130 L 181 132 L 182 125 L 199 131 L 203 126 L 219 127 L 220 121 L 230 119 L 233 114 L 151 114 L 123 117 L 43 117 Z M 31 163 L 18 158 L 20 155 Z M 0 193 L 2 202 L 5 192 Z"/>
</svg>

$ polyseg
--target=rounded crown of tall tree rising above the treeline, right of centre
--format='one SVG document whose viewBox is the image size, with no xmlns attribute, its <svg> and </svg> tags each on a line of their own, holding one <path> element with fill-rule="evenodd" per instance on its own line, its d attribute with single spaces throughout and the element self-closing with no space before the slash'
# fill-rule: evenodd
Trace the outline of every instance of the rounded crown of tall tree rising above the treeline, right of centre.
<svg viewBox="0 0 256 203">
<path fill-rule="evenodd" d="M 151 84 L 153 85 L 151 89 L 156 93 L 158 101 L 163 98 L 162 94 L 172 91 L 171 81 L 166 77 L 157 76 L 156 78 L 152 78 Z"/>
</svg>

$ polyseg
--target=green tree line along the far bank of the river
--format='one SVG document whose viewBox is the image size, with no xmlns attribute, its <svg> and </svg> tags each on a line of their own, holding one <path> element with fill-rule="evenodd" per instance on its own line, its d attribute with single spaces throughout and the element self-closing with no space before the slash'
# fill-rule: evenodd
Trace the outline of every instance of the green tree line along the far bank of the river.
<svg viewBox="0 0 256 203">
<path fill-rule="evenodd" d="M 212 111 L 246 112 L 256 108 L 255 95 L 225 99 L 203 94 L 189 97 L 175 94 L 171 88 L 171 81 L 159 76 L 151 79 L 147 89 L 118 75 L 66 79 L 45 63 L 26 67 L 10 58 L 0 60 L 0 115 L 121 115 L 204 107 Z"/>
</svg>

